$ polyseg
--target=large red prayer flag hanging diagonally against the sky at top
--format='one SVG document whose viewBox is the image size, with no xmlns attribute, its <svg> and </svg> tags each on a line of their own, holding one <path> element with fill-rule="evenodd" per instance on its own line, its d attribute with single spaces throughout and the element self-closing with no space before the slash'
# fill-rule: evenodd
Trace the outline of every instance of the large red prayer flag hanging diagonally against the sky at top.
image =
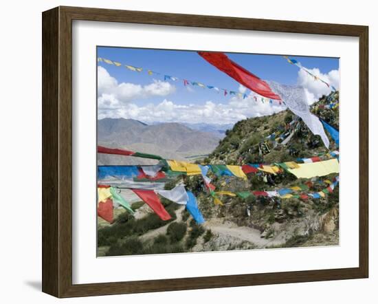
<svg viewBox="0 0 378 304">
<path fill-rule="evenodd" d="M 214 67 L 220 69 L 228 76 L 234 78 L 238 83 L 244 85 L 248 89 L 260 94 L 261 96 L 281 100 L 280 96 L 271 91 L 271 88 L 264 80 L 258 78 L 258 76 L 247 71 L 244 67 L 241 67 L 223 53 L 217 52 L 198 52 L 205 61 L 214 65 Z"/>
</svg>

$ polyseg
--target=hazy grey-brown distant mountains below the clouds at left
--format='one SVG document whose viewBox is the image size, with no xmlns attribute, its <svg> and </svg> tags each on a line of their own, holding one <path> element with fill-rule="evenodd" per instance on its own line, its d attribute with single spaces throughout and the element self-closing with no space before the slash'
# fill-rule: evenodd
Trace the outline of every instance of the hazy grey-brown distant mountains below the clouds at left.
<svg viewBox="0 0 378 304">
<path fill-rule="evenodd" d="M 148 125 L 138 120 L 104 118 L 98 120 L 98 144 L 161 155 L 164 158 L 188 159 L 211 153 L 219 144 L 214 133 L 198 131 L 176 122 Z M 153 161 L 123 158 L 127 164 Z M 120 158 L 99 155 L 99 164 L 114 164 Z"/>
</svg>

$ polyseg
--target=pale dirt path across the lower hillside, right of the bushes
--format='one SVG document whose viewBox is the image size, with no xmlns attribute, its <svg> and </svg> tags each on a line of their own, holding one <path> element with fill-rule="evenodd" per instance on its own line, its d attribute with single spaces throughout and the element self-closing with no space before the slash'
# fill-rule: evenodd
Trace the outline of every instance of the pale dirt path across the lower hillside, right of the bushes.
<svg viewBox="0 0 378 304">
<path fill-rule="evenodd" d="M 231 221 L 221 221 L 219 219 L 210 219 L 203 224 L 205 228 L 211 229 L 212 232 L 221 235 L 229 235 L 236 237 L 243 241 L 254 243 L 258 248 L 265 248 L 266 246 L 279 245 L 282 243 L 280 239 L 264 239 L 260 237 L 259 230 L 249 227 L 241 227 L 232 223 Z"/>
</svg>

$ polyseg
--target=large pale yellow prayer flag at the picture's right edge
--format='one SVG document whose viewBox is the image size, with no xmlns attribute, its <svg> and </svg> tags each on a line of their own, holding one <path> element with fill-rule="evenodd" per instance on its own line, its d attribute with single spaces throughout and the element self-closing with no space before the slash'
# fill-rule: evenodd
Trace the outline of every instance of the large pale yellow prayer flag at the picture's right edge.
<svg viewBox="0 0 378 304">
<path fill-rule="evenodd" d="M 298 178 L 311 178 L 329 175 L 331 173 L 339 173 L 339 162 L 336 158 L 322 162 L 298 164 L 298 166 L 298 169 L 289 169 L 289 172 L 293 173 L 293 175 L 296 175 Z"/>
</svg>

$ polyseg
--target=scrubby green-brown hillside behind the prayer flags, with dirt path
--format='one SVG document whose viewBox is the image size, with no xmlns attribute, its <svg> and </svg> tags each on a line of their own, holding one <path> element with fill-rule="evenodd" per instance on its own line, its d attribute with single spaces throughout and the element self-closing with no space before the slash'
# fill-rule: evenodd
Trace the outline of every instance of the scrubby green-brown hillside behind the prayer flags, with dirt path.
<svg viewBox="0 0 378 304">
<path fill-rule="evenodd" d="M 338 101 L 338 93 L 323 96 L 311 106 L 318 117 L 338 128 L 338 107 L 329 109 Z M 269 135 L 276 133 L 278 140 Z M 287 141 L 287 136 L 292 134 Z M 282 136 L 282 138 L 280 138 Z M 330 138 L 330 151 L 336 150 Z M 285 141 L 286 140 L 286 141 Z M 282 144 L 283 143 L 283 144 Z M 312 135 L 307 126 L 289 111 L 271 116 L 249 118 L 237 122 L 225 133 L 214 151 L 202 164 L 247 164 L 296 161 L 297 158 L 311 158 L 324 155 L 328 150 L 318 135 Z M 333 180 L 336 174 L 327 175 L 311 183 L 311 191 L 321 191 L 324 180 Z M 271 175 L 247 175 L 247 180 L 238 177 L 215 177 L 212 184 L 216 191 L 273 191 L 279 188 L 298 186 L 309 180 L 296 179 L 290 173 Z M 179 177 L 186 188 L 197 197 L 199 209 L 205 224 L 197 226 L 188 212 L 166 199 L 162 202 L 173 219 L 166 223 L 155 219 L 145 204 L 138 205 L 135 218 L 120 217 L 115 224 L 100 230 L 99 246 L 102 254 L 147 254 L 164 252 L 199 252 L 213 250 L 234 250 L 254 248 L 282 248 L 296 246 L 331 246 L 339 243 L 339 193 L 338 186 L 333 193 L 320 199 L 306 200 L 280 197 L 254 197 L 246 199 L 219 195 L 223 203 L 214 204 L 214 198 L 203 186 L 199 175 Z M 165 188 L 175 186 L 166 183 Z M 137 203 L 135 203 L 137 204 Z M 137 205 L 135 205 L 137 206 Z M 137 218 L 137 219 L 136 219 Z M 180 237 L 172 237 L 170 225 L 181 230 Z M 179 225 L 179 226 L 177 226 Z M 137 228 L 135 226 L 142 228 Z M 141 230 L 138 230 L 141 229 Z M 122 230 L 123 237 L 117 243 L 109 243 L 106 237 Z M 137 243 L 134 252 L 128 251 L 131 243 Z"/>
</svg>

